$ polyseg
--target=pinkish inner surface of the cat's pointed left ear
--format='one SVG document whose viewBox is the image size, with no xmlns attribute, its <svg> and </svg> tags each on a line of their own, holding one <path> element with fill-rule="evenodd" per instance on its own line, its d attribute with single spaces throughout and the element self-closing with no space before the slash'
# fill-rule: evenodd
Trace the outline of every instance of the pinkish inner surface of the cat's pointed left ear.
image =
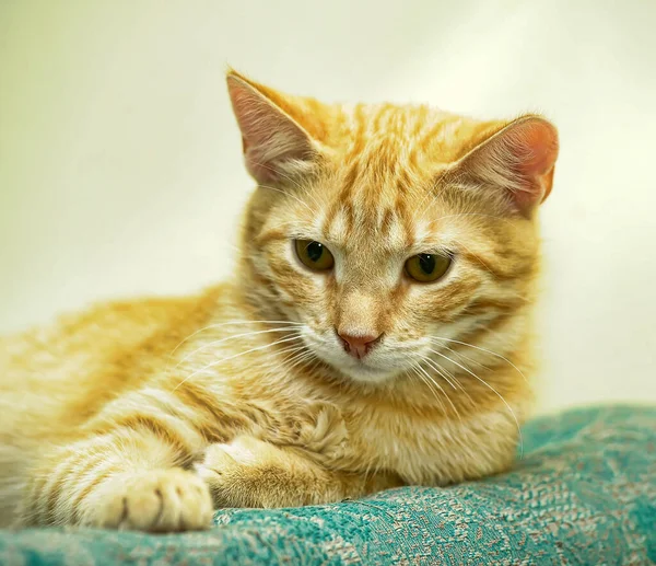
<svg viewBox="0 0 656 566">
<path fill-rule="evenodd" d="M 256 181 L 276 181 L 285 161 L 312 153 L 307 134 L 267 96 L 239 78 L 229 77 L 227 86 L 242 130 L 246 168 Z"/>
</svg>

